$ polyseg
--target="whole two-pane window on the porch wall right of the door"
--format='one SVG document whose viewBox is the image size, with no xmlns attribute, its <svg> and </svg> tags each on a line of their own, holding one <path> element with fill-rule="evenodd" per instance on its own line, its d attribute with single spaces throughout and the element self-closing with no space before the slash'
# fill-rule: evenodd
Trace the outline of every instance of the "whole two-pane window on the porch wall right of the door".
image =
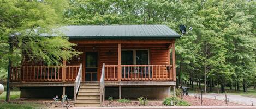
<svg viewBox="0 0 256 109">
<path fill-rule="evenodd" d="M 122 50 L 122 65 L 148 65 L 148 50 Z"/>
</svg>

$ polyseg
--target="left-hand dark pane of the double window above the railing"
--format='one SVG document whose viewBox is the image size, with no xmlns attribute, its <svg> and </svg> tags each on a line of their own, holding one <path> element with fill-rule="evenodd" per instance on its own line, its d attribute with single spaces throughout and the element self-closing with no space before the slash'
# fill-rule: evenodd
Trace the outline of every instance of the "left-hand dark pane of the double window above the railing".
<svg viewBox="0 0 256 109">
<path fill-rule="evenodd" d="M 133 65 L 133 51 L 125 50 L 121 52 L 121 64 L 122 65 Z"/>
</svg>

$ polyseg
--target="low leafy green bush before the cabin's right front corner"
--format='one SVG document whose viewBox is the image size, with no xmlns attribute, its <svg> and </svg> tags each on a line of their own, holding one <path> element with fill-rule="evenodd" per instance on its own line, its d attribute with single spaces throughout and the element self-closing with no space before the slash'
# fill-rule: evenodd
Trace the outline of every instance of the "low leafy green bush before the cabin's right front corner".
<svg viewBox="0 0 256 109">
<path fill-rule="evenodd" d="M 190 106 L 187 101 L 174 96 L 165 98 L 163 104 L 167 106 Z"/>
</svg>

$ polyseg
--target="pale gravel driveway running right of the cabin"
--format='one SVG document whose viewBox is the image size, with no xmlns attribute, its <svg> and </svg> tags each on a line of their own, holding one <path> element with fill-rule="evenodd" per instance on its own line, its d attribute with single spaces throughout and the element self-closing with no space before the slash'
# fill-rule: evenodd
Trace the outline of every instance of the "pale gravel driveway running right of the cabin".
<svg viewBox="0 0 256 109">
<path fill-rule="evenodd" d="M 189 93 L 190 96 L 194 96 L 195 93 Z M 252 106 L 256 106 L 256 98 L 252 97 L 244 97 L 241 95 L 231 95 L 227 94 L 229 102 L 235 102 L 238 104 L 245 104 Z M 209 93 L 209 94 L 203 94 L 203 99 L 205 98 L 210 98 L 210 99 L 218 99 L 218 100 L 225 100 L 225 94 L 217 94 L 217 93 Z"/>
</svg>

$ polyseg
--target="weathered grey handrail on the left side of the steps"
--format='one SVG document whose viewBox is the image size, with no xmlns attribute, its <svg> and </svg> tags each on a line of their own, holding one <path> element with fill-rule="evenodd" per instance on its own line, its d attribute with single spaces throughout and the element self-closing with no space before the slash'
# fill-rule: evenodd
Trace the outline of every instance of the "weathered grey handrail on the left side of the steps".
<svg viewBox="0 0 256 109">
<path fill-rule="evenodd" d="M 74 104 L 75 104 L 76 95 L 78 94 L 78 89 L 81 81 L 82 81 L 82 64 L 80 64 L 78 75 L 76 75 L 76 79 L 74 83 Z"/>
</svg>

